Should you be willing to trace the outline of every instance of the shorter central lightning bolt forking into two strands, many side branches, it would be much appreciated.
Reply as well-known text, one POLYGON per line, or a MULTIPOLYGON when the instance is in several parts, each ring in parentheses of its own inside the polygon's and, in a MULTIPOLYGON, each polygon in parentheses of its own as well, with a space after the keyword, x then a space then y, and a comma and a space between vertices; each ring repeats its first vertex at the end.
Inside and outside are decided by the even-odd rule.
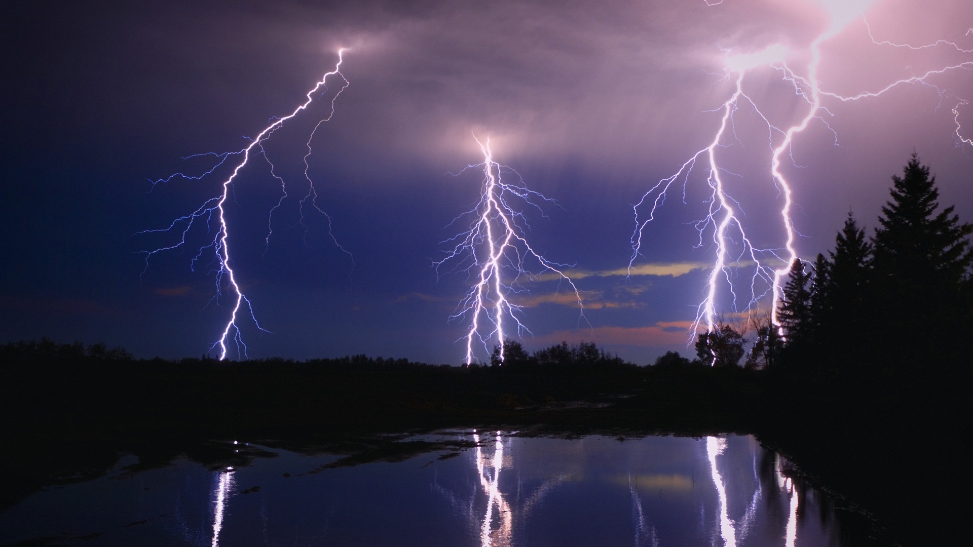
MULTIPOLYGON (((483 168, 484 181, 480 201, 473 209, 453 220, 455 223, 462 218, 471 217, 469 230, 444 241, 452 243, 453 247, 446 258, 433 263, 437 274, 444 264, 452 261, 464 265, 457 268, 476 275, 476 283, 459 303, 456 312, 450 316, 450 320, 470 318, 469 329, 464 337, 466 364, 474 362, 477 343, 488 354, 491 340, 496 340, 500 348, 500 360, 504 360, 504 341, 509 331, 504 330, 505 318, 512 321, 518 336, 523 335, 524 331, 530 332, 519 316, 523 306, 511 301, 512 295, 526 292, 522 277, 541 280, 538 274, 527 270, 525 263, 528 260, 539 264, 542 273, 553 274, 570 286, 581 310, 581 318, 584 318, 584 299, 574 281, 564 274, 568 265, 547 260, 530 246, 522 235, 527 228, 523 211, 512 205, 512 201, 520 201, 526 206, 541 210, 533 200, 553 200, 527 189, 517 171, 494 162, 489 138, 486 142, 480 141, 476 136, 474 139, 483 152, 484 162, 468 165, 463 170, 483 168), (505 172, 513 174, 516 180, 504 180, 502 175, 505 172)), ((542 210, 541 213, 543 214, 542 210)))

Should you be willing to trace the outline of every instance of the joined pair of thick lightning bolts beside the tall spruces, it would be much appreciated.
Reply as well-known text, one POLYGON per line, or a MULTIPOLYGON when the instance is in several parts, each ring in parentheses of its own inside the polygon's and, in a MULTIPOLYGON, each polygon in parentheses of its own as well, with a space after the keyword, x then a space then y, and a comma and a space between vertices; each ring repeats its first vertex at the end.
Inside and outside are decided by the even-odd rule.
MULTIPOLYGON (((826 100, 857 101, 869 97, 878 97, 901 86, 919 84, 935 90, 940 96, 940 103, 947 98, 955 101, 952 112, 954 114, 956 144, 957 146, 973 145, 973 139, 964 135, 959 121, 960 110, 968 104, 968 101, 951 95, 948 91, 940 89, 930 81, 930 78, 936 75, 956 70, 973 69, 973 61, 940 66, 923 74, 891 82, 875 91, 862 91, 857 94, 844 95, 821 89, 817 76, 821 64, 821 45, 836 36, 852 20, 864 19, 863 14, 870 7, 872 1, 818 0, 818 3, 828 12, 831 23, 811 42, 808 48, 810 60, 801 67, 800 71, 788 64, 787 59, 790 52, 783 45, 777 44, 761 52, 751 54, 737 54, 733 51, 726 51, 721 79, 733 82, 734 85, 733 91, 724 102, 710 111, 721 114, 719 125, 714 131, 712 139, 705 147, 681 164, 673 174, 652 186, 632 206, 635 227, 631 236, 630 275, 635 261, 643 254, 643 245, 646 244, 646 241, 643 240, 645 229, 655 219, 657 210, 665 203, 670 189, 673 186, 681 186, 683 203, 685 203, 686 187, 689 184, 691 173, 698 168, 705 171, 705 181, 709 188, 706 200, 708 208, 703 219, 694 224, 699 234, 696 246, 698 248, 703 247, 705 240, 711 240, 714 259, 713 267, 706 278, 705 296, 697 306, 696 317, 690 333, 691 337, 695 337, 696 333, 701 330, 708 332, 714 330, 719 316, 716 301, 721 290, 727 291, 733 312, 745 311, 748 316, 751 312, 758 310, 760 303, 766 302, 765 299, 770 295, 772 320, 775 324, 778 324, 776 311, 782 296, 781 281, 787 275, 791 263, 799 258, 795 248, 795 238, 798 233, 791 217, 791 208, 794 205, 793 184, 784 174, 782 166, 785 157, 790 158, 790 164, 797 166, 792 156, 795 139, 812 124, 819 123, 831 131, 837 145, 838 135, 828 125, 826 119, 826 117, 833 116, 824 104, 826 100), (779 72, 782 80, 793 88, 795 96, 800 99, 799 104, 805 105, 803 114, 790 127, 775 126, 755 100, 744 91, 744 82, 747 76, 756 69, 766 70, 767 68, 779 72), (725 183, 728 176, 742 177, 721 164, 718 156, 720 151, 733 146, 734 142, 742 144, 737 137, 735 128, 735 115, 741 108, 752 110, 755 119, 767 130, 768 140, 765 150, 769 151, 770 163, 766 172, 767 178, 774 183, 773 191, 776 200, 781 203, 778 218, 784 236, 783 241, 778 246, 771 248, 755 245, 753 239, 747 235, 742 209, 739 202, 734 200, 728 192, 725 183), (738 294, 740 292, 739 284, 735 284, 734 281, 742 267, 752 268, 745 295, 738 294)), ((708 6, 717 5, 717 3, 710 2, 706 2, 706 4, 708 6)), ((956 42, 948 40, 939 40, 923 46, 880 41, 872 34, 871 28, 867 26, 867 21, 865 24, 868 28, 869 37, 878 46, 913 50, 948 48, 954 49, 959 54, 973 53, 973 50, 963 49, 956 42)), ((973 34, 973 29, 967 31, 966 34, 973 34)))

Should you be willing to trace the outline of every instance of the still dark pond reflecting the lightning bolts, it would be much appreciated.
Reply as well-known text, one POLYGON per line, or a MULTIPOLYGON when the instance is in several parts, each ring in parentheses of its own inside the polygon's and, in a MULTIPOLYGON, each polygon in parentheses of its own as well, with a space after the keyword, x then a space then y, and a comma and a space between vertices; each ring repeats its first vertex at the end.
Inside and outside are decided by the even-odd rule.
MULTIPOLYGON (((751 436, 467 441, 403 461, 264 448, 242 467, 179 459, 37 492, 0 514, 0 544, 843 545, 824 494, 751 436)), ((241 443, 242 448, 242 443, 241 443)))

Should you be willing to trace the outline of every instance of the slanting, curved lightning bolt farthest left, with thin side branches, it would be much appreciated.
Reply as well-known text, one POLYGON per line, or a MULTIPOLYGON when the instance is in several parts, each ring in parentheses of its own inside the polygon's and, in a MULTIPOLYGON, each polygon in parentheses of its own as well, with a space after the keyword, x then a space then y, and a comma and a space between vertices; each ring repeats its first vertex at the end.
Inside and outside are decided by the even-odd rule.
MULTIPOLYGON (((194 156, 190 156, 188 158, 201 158, 201 157, 211 156, 215 160, 215 164, 213 164, 209 169, 205 170, 204 172, 198 175, 177 172, 165 178, 152 181, 152 186, 153 188, 155 188, 160 183, 169 182, 176 178, 183 178, 187 180, 202 180, 208 175, 213 174, 214 171, 216 171, 224 164, 228 164, 232 166, 232 171, 230 175, 227 178, 225 178, 220 185, 222 187, 222 192, 219 195, 210 198, 206 201, 203 201, 203 203, 199 205, 196 210, 194 210, 189 214, 176 218, 167 227, 154 229, 154 230, 145 230, 137 234, 137 235, 153 234, 153 233, 164 234, 164 235, 173 234, 178 237, 178 240, 171 244, 163 245, 153 250, 141 251, 145 255, 146 270, 148 270, 149 268, 149 261, 156 254, 161 253, 163 251, 180 249, 182 247, 187 246, 188 245, 187 237, 189 237, 190 231, 198 223, 205 224, 205 230, 207 234, 214 234, 212 239, 209 239, 206 244, 198 248, 198 252, 196 256, 190 262, 190 268, 195 272, 196 265, 200 260, 202 260, 203 255, 206 254, 207 252, 212 253, 215 262, 215 267, 211 272, 215 274, 216 277, 216 292, 213 298, 210 300, 210 302, 218 301, 218 299, 221 296, 223 296, 224 291, 230 292, 231 299, 234 302, 233 309, 230 312, 230 317, 227 320, 226 325, 223 327, 223 332, 219 340, 216 343, 214 343, 212 346, 210 346, 210 351, 216 349, 217 347, 219 348, 219 354, 221 360, 227 357, 231 340, 233 341, 236 347, 237 355, 242 355, 244 358, 246 357, 247 346, 243 342, 242 333, 240 331, 240 326, 238 324, 238 321, 242 317, 242 315, 245 314, 249 316, 250 320, 252 320, 254 325, 256 325, 256 327, 261 331, 270 332, 264 327, 262 327, 260 323, 257 321, 257 317, 254 314, 254 310, 253 310, 253 304, 251 303, 250 299, 247 298, 247 296, 241 290, 240 284, 236 278, 236 272, 234 271, 233 259, 231 258, 231 253, 230 253, 230 229, 226 219, 226 208, 225 208, 225 204, 227 200, 230 198, 233 190, 234 179, 236 179, 236 176, 240 173, 240 171, 250 162, 252 156, 263 155, 264 159, 268 162, 268 164, 270 164, 270 174, 274 179, 276 179, 280 183, 281 194, 282 194, 280 200, 277 201, 277 204, 275 204, 270 209, 270 213, 268 215, 268 236, 266 237, 266 241, 267 244, 270 245, 270 235, 272 234, 271 221, 272 221, 273 212, 288 197, 288 194, 287 194, 287 188, 283 178, 281 178, 276 174, 274 170, 274 165, 270 162, 270 158, 268 158, 267 151, 264 149, 264 143, 270 138, 270 136, 274 133, 274 131, 281 128, 285 122, 294 118, 302 111, 306 110, 306 108, 311 104, 311 102, 313 102, 315 97, 323 96, 324 93, 328 90, 326 82, 328 78, 332 76, 338 76, 339 78, 341 78, 342 84, 341 84, 341 88, 331 98, 331 110, 328 112, 327 117, 320 120, 317 123, 317 125, 314 126, 314 129, 310 132, 310 135, 307 138, 306 141, 307 153, 304 156, 304 167, 305 167, 304 175, 309 186, 308 186, 308 191, 306 196, 300 200, 300 210, 301 210, 301 224, 305 226, 305 229, 307 229, 306 225, 304 224, 304 207, 306 205, 313 207, 315 210, 323 214, 328 221, 329 236, 331 236, 332 239, 335 241, 335 243, 338 244, 338 240, 335 239, 334 235, 331 233, 331 217, 329 217, 327 213, 324 212, 324 210, 318 207, 316 203, 317 192, 314 189, 313 181, 311 181, 310 176, 307 174, 307 170, 309 168, 307 164, 307 159, 311 153, 311 141, 314 138, 314 133, 317 131, 317 128, 321 126, 321 124, 330 121, 331 118, 334 116, 335 101, 338 99, 338 96, 341 95, 342 91, 344 91, 345 88, 348 87, 348 81, 344 78, 344 76, 341 73, 341 66, 343 60, 342 55, 344 51, 345 51, 344 48, 338 51, 338 63, 335 65, 335 69, 332 70, 331 72, 325 73, 325 75, 321 78, 321 80, 317 82, 310 91, 307 91, 305 95, 306 101, 304 103, 302 103, 300 106, 295 108, 294 111, 287 116, 284 116, 282 118, 272 118, 271 119, 272 122, 270 123, 269 126, 267 126, 262 131, 260 131, 257 134, 257 136, 248 139, 250 141, 250 144, 248 144, 245 148, 236 152, 226 152, 226 153, 219 153, 219 154, 205 153, 205 154, 197 154, 194 156), (231 159, 235 160, 235 164, 231 162, 231 159), (213 226, 213 224, 215 224, 215 227, 213 226), (245 311, 243 311, 244 308, 246 309, 245 311)), ((347 251, 341 245, 338 246, 339 248, 342 249, 342 251, 347 253, 347 251)), ((143 270, 143 274, 144 272, 145 270, 143 270)))

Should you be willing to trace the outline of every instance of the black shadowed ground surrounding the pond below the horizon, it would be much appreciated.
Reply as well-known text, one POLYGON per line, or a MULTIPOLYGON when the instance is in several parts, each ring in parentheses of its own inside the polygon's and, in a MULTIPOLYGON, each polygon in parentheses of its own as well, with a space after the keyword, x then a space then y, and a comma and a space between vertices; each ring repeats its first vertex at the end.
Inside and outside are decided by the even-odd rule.
MULTIPOLYGON (((965 544, 971 533, 965 379, 891 387, 736 367, 432 367, 366 358, 292 363, 6 359, 0 508, 140 467, 232 457, 214 439, 330 450, 348 463, 436 447, 377 433, 446 427, 533 434, 751 433, 874 520, 874 544, 965 544), (582 404, 578 404, 581 402, 582 404)), ((406 454, 409 453, 409 454, 406 454)))

